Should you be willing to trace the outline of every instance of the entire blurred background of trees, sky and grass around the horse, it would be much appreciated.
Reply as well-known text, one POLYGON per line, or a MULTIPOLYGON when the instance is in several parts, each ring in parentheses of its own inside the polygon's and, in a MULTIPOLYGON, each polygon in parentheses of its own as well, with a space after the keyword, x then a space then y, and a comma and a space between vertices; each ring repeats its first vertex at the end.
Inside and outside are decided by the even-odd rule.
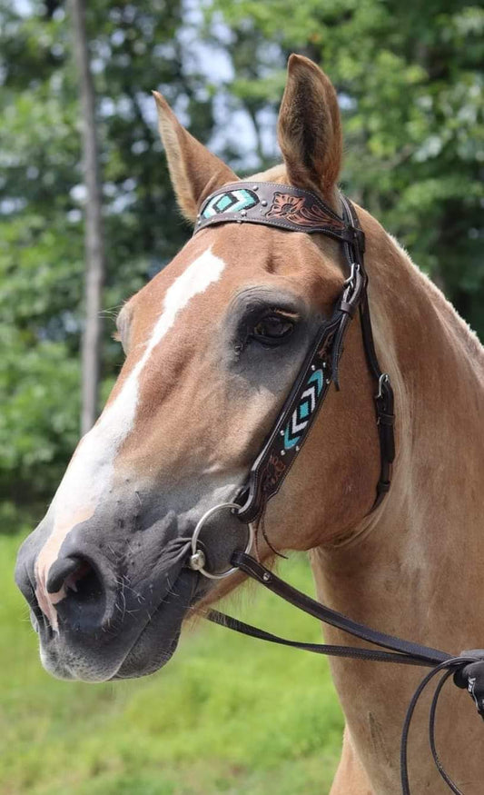
MULTIPOLYGON (((15 551, 114 383, 115 314, 191 234, 151 90, 249 174, 278 161, 287 56, 309 55, 338 90, 343 189, 482 339, 483 34, 482 6, 457 0, 0 0, 1 795, 328 791, 342 720, 324 661, 203 627, 151 679, 50 680, 15 551)), ((303 559, 283 573, 311 591, 303 559)))

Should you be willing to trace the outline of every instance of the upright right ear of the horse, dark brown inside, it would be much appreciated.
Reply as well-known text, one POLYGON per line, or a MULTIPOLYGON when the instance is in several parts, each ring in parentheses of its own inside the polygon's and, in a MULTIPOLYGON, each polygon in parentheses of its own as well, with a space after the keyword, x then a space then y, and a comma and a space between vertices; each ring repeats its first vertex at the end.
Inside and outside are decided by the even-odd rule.
POLYGON ((291 55, 278 138, 291 184, 331 194, 341 168, 341 120, 329 78, 302 55, 291 55))

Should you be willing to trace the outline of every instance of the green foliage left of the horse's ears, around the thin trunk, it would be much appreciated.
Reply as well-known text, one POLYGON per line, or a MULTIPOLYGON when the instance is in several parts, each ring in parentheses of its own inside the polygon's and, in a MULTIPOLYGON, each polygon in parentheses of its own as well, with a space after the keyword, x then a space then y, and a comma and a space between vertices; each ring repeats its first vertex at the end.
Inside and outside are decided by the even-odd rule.
MULTIPOLYGON (((173 201, 151 89, 193 133, 212 98, 188 60, 179 2, 96 0, 87 15, 104 171, 106 313, 168 262, 190 231, 173 201)), ((0 0, 0 489, 50 496, 78 437, 84 317, 80 109, 64 4, 0 0)), ((189 54, 190 55, 190 54, 189 54)), ((104 339, 104 397, 121 362, 104 339)))

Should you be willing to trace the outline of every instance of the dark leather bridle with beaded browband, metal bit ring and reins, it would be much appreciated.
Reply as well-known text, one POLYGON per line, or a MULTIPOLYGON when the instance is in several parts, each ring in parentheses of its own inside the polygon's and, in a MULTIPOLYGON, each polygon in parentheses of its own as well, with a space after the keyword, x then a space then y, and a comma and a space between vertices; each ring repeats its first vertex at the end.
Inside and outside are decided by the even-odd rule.
POLYGON ((301 591, 297 591, 249 554, 254 539, 253 522, 261 519, 267 501, 280 490, 291 464, 301 451, 331 383, 334 383, 337 390, 340 389, 338 372, 343 342, 351 319, 357 312, 360 314, 366 362, 375 383, 375 420, 380 440, 380 479, 376 485, 375 499, 370 511, 374 511, 380 505, 390 489, 391 465, 395 457, 393 391, 389 374, 383 373, 380 369, 373 341, 367 293, 368 274, 363 259, 365 237, 350 200, 341 195, 341 205, 340 216, 319 196, 309 191, 290 185, 252 182, 225 185, 208 196, 202 204, 194 234, 209 225, 231 222, 264 224, 292 232, 325 234, 341 242, 348 278, 343 284, 331 317, 321 323, 311 343, 300 372, 282 406, 282 411, 264 442, 262 451, 252 464, 244 487, 233 502, 215 506, 198 522, 193 532, 192 554, 188 565, 212 579, 228 576, 233 571, 243 571, 252 580, 259 582, 264 588, 301 611, 379 648, 290 641, 212 610, 206 617, 214 623, 252 638, 317 654, 430 668, 430 672, 420 682, 412 696, 403 723, 400 743, 402 795, 410 795, 407 759, 410 722, 422 692, 434 677, 440 675, 430 706, 430 750, 440 776, 449 790, 456 795, 463 795, 443 769, 436 749, 434 737, 436 709, 442 687, 453 675, 457 686, 469 691, 479 715, 484 719, 484 651, 463 651, 459 657, 454 657, 445 651, 370 629, 365 624, 352 621, 342 613, 333 611, 301 591), (220 574, 211 573, 205 568, 206 556, 199 545, 199 536, 209 516, 224 509, 230 510, 241 522, 247 524, 249 541, 245 552, 237 551, 232 554, 232 568, 220 574))

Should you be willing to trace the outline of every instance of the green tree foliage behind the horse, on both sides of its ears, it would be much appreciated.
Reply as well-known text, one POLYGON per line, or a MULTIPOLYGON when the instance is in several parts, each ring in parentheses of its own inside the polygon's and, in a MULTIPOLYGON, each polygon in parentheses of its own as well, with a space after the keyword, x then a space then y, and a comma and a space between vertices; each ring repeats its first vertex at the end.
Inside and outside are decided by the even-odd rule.
MULTIPOLYGON (((84 193, 64 4, 20 7, 0 0, 0 386, 7 398, 0 486, 29 501, 52 492, 77 436, 84 193)), ((274 159, 285 60, 295 51, 320 63, 337 86, 343 188, 484 334, 482 8, 457 0, 209 0, 204 7, 203 19, 188 0, 89 5, 106 313, 188 234, 150 90, 161 90, 193 134, 212 140, 232 165, 266 166, 274 159), (188 44, 188 27, 192 42, 204 42, 202 57, 188 44)), ((104 393, 120 362, 106 325, 104 393)))

